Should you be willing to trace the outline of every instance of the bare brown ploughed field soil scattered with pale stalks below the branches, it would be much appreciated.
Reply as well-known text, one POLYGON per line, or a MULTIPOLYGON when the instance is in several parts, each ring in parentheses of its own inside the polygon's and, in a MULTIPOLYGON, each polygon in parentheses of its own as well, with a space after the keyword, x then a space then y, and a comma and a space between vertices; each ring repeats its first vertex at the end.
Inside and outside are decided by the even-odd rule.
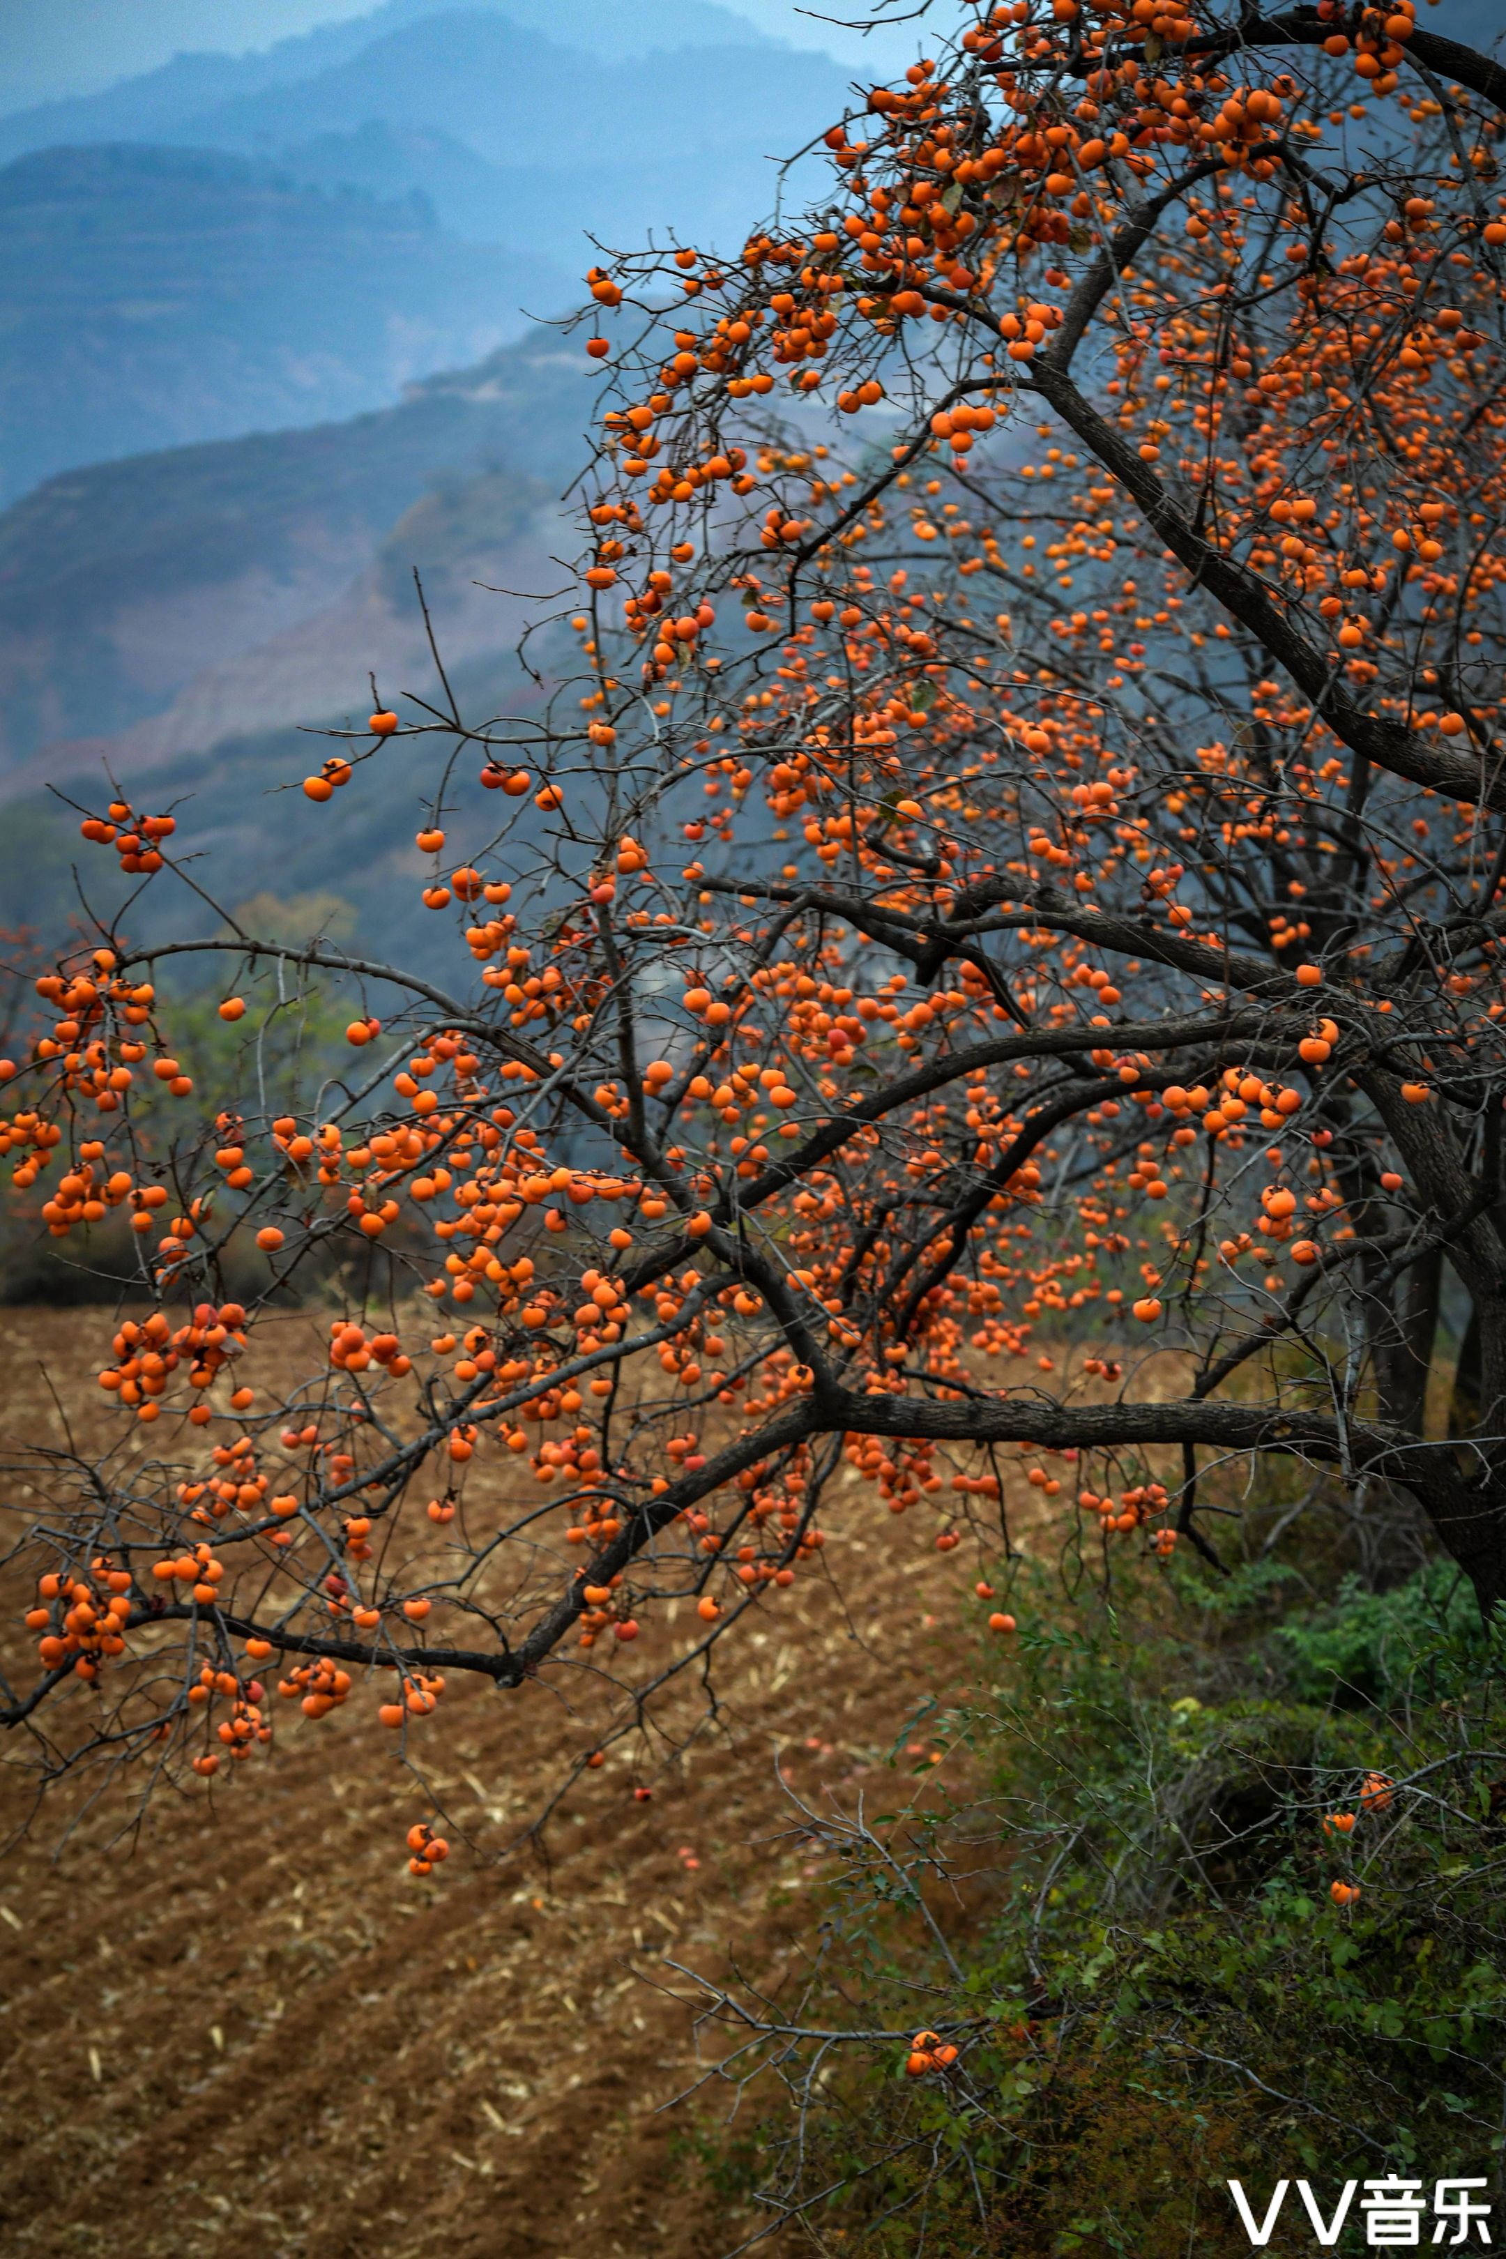
MULTIPOLYGON (((11 1437, 59 1423, 41 1367, 99 1419, 102 1331, 99 1312, 0 1312, 11 1437)), ((583 1746, 544 1685, 456 1690, 429 1721, 454 1839, 431 1882, 404 1850, 431 1796, 354 1703, 318 1724, 278 1706, 271 1760, 228 1794, 163 1789, 124 1837, 120 1789, 32 1816, 14 1776, 5 2252, 716 2259, 752 2234, 695 2146, 729 2092, 668 2108, 698 2065, 691 1986, 664 1956, 777 1977, 811 1934, 813 1868, 781 1841, 774 1753, 802 1794, 851 1803, 872 1776, 887 1800, 896 1735, 973 1658, 969 1547, 942 1559, 919 1520, 847 1500, 829 1518, 844 1595, 802 1584, 727 1640, 720 1710, 682 1699, 700 1730, 653 1800, 612 1760, 542 1852, 506 1846, 583 1746)))

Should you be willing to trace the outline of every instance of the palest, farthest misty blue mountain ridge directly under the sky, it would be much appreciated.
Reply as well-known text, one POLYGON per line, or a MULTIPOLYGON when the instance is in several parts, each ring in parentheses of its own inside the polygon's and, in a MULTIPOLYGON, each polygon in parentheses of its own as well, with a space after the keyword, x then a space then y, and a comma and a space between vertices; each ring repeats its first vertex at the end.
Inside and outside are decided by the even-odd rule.
MULTIPOLYGON (((840 115, 844 72, 720 7, 391 0, 260 56, 178 56, 0 120, 0 156, 151 140, 278 163, 325 190, 420 192, 445 230, 578 273, 587 235, 741 239, 786 156, 840 115)), ((429 366, 436 366, 434 361, 429 366)))

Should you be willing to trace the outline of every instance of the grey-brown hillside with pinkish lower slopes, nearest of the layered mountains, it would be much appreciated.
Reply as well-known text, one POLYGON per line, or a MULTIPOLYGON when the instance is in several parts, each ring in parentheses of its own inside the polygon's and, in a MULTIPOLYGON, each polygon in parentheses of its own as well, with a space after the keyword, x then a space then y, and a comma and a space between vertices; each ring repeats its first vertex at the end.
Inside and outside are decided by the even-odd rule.
MULTIPOLYGON (((122 759, 163 757, 271 712, 318 718, 361 691, 366 666, 386 664, 388 630, 368 623, 368 642, 352 644, 350 592, 384 542, 384 587, 406 635, 409 565, 449 574, 463 596, 458 551, 494 549, 515 515, 499 483, 481 515, 465 517, 456 497, 504 474, 528 511, 542 508, 583 459, 596 382, 573 343, 535 330, 413 386, 400 407, 65 472, 0 513, 5 788, 77 768, 79 739, 111 736, 122 759), (138 734, 122 750, 126 730, 138 734)), ((504 612, 481 608, 465 646, 485 633, 506 644, 504 612)))

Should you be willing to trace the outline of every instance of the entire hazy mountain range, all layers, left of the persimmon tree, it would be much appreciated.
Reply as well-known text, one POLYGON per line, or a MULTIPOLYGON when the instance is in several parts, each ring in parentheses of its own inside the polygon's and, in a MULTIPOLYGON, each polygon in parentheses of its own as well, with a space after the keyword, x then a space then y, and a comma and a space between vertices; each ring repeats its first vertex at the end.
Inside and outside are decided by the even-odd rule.
POLYGON ((77 815, 38 788, 108 764, 214 791, 246 886, 379 922, 377 863, 334 867, 282 786, 368 671, 431 694, 415 567, 465 696, 540 696, 537 601, 494 590, 558 590, 603 373, 508 343, 519 307, 580 296, 587 230, 738 248, 844 108, 826 56, 700 0, 388 0, 0 120, 7 915, 68 915, 77 815))

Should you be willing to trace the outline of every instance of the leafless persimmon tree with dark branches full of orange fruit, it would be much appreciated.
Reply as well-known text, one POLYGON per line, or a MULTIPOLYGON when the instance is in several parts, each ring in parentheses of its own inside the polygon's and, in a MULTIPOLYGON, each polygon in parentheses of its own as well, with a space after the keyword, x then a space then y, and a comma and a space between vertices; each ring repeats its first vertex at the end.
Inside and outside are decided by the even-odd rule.
POLYGON ((413 800, 452 978, 151 947, 192 822, 84 813, 149 897, 38 980, 5 1141, 154 1306, 18 1536, 45 1767, 226 1778, 273 1681, 409 1746, 589 1674, 648 1737, 853 1518, 1007 1572, 1012 1468, 1111 1561, 1282 1455, 1495 1608, 1504 95, 1411 0, 966 11, 802 219, 594 269, 542 703, 440 669, 291 802, 413 800), (196 1118, 205 962, 230 1021, 361 989, 314 1111, 196 1118))

